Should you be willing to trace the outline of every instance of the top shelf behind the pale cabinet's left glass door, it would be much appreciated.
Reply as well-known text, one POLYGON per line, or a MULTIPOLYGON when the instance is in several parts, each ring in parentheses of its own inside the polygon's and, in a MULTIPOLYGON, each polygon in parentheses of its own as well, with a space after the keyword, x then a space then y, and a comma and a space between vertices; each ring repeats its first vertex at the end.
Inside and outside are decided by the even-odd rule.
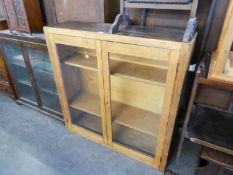
POLYGON ((87 54, 75 54, 64 61, 65 64, 70 66, 98 71, 97 57, 87 54))

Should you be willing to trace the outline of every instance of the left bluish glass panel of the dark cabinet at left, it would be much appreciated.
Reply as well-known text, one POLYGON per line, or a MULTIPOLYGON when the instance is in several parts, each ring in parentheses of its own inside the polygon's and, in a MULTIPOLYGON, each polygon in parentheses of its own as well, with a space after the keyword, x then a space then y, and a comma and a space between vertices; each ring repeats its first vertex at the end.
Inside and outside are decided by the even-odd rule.
POLYGON ((35 93, 27 73, 21 47, 16 44, 4 43, 3 48, 19 98, 36 103, 35 93))

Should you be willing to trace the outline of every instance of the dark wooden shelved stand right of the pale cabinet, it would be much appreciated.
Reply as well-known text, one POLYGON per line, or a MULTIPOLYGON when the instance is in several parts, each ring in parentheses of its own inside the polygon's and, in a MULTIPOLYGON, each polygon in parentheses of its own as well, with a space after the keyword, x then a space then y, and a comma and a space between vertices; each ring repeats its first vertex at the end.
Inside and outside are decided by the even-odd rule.
MULTIPOLYGON (((216 125, 214 125, 214 123, 217 123, 217 119, 215 119, 216 116, 221 118, 222 123, 225 122, 223 124, 224 126, 226 123, 231 123, 231 120, 227 119, 226 116, 231 116, 233 114, 231 109, 233 90, 232 83, 229 81, 223 81, 220 78, 206 78, 206 67, 208 67, 208 63, 206 62, 208 62, 208 60, 204 58, 197 68, 194 85, 188 103, 184 126, 179 142, 177 154, 178 158, 181 156, 185 138, 196 144, 233 155, 232 147, 230 148, 230 146, 226 144, 231 143, 231 141, 225 139, 227 141, 224 142, 224 138, 227 136, 221 132, 215 132, 216 125), (202 111, 197 115, 200 109, 202 111), (210 114, 210 111, 214 112, 210 114), (206 112, 207 114, 205 114, 204 112, 206 112), (216 116, 214 116, 213 114, 215 114, 216 116), (203 124, 204 121, 202 121, 201 119, 205 119, 208 116, 210 116, 211 119, 209 119, 207 122, 208 124, 205 125, 203 124), (195 124, 198 123, 197 120, 195 121, 195 118, 199 118, 202 122, 202 124, 198 126, 198 129, 194 128, 196 127, 195 124), (197 130, 201 130, 201 127, 206 127, 209 130, 202 130, 201 132, 196 133, 197 130), (213 136, 211 135, 211 130, 214 130, 214 135, 218 135, 218 138, 213 138, 213 136), (205 132, 208 134, 205 134, 205 132)), ((220 129, 218 128, 218 130, 220 129)), ((226 133, 230 133, 230 131, 226 133)))

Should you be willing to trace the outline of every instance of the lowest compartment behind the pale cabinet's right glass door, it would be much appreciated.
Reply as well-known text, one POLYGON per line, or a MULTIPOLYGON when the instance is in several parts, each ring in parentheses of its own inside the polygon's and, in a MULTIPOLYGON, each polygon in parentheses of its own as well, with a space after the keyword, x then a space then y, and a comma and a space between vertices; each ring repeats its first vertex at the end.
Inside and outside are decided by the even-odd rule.
POLYGON ((113 124, 113 142, 120 143, 150 156, 155 155, 155 137, 122 125, 113 124))

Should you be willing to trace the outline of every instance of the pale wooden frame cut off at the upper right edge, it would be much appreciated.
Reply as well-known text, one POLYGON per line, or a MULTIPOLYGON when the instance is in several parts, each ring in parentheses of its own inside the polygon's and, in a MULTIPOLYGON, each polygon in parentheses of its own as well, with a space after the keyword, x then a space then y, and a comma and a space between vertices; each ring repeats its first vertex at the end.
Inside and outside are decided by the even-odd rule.
POLYGON ((229 2, 222 33, 216 52, 211 59, 208 78, 230 82, 233 84, 233 75, 225 73, 227 59, 231 57, 231 46, 233 42, 233 1, 229 2))

